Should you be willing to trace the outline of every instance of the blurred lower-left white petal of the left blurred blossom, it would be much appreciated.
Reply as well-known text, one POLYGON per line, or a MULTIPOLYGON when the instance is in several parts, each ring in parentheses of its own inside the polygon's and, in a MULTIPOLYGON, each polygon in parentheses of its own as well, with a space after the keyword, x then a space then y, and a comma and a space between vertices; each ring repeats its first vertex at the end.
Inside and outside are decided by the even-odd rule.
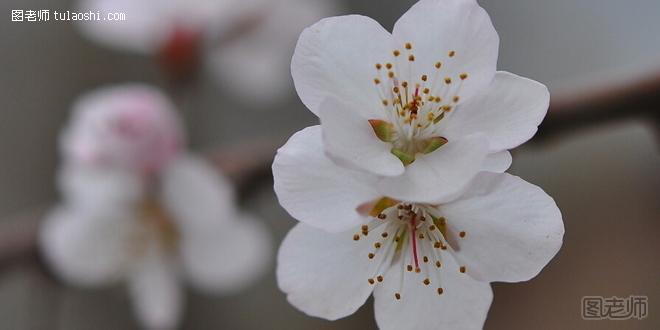
POLYGON ((133 221, 119 212, 91 216, 56 209, 41 227, 41 252, 55 273, 71 284, 116 282, 130 262, 133 221))

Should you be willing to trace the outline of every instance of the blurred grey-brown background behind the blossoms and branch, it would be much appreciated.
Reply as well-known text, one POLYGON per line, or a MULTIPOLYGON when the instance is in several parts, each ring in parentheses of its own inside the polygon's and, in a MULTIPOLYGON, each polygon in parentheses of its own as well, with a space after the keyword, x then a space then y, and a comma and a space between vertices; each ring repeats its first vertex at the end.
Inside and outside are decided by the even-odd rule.
MULTIPOLYGON (((363 14, 391 29, 414 1, 337 3, 342 9, 329 15, 363 14)), ((571 112, 571 100, 612 97, 619 94, 609 91, 620 86, 628 86, 624 89, 633 94, 635 88, 643 87, 660 99, 660 84, 638 84, 660 76, 657 0, 480 3, 500 34, 499 68, 550 88, 549 120, 555 115, 561 123, 571 116, 579 118, 571 112)), ((64 0, 0 3, 0 228, 20 226, 17 219, 40 214, 39 210, 58 201, 54 186, 57 137, 77 96, 131 81, 173 90, 152 57, 99 45, 84 38, 73 22, 10 19, 12 9, 74 6, 64 0)), ((290 76, 281 79, 289 84, 290 76)), ((316 123, 293 90, 265 105, 233 96, 204 70, 183 96, 173 95, 194 150, 213 152, 260 138, 279 145, 295 131, 316 123)), ((493 285, 495 300, 486 329, 660 329, 660 102, 647 101, 623 102, 615 115, 594 116, 593 124, 580 128, 555 125, 547 132, 542 127, 547 138, 534 139, 513 152, 510 172, 555 198, 566 236, 559 255, 540 276, 527 283, 493 285), (640 111, 651 116, 626 115, 640 111), (581 318, 583 296, 630 295, 648 296, 646 319, 581 318)), ((596 102, 576 111, 598 112, 600 106, 596 102)), ((266 220, 275 242, 295 224, 278 206, 268 179, 251 190, 243 205, 266 220)), ((6 243, 0 242, 0 247, 6 243)), ((276 249, 273 246, 273 253, 276 249)), ((31 258, 2 257, 0 329, 139 327, 122 288, 71 288, 31 258)), ((190 291, 182 327, 372 329, 375 323, 370 303, 337 322, 309 318, 286 302, 271 271, 257 285, 234 296, 190 291)))

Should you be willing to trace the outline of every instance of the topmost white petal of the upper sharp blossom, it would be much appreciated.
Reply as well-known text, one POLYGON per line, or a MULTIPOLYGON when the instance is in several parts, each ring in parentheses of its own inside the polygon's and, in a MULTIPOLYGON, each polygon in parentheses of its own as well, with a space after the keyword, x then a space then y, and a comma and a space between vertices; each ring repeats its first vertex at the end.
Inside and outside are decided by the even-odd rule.
POLYGON ((495 75, 499 37, 490 17, 475 0, 421 0, 394 25, 400 43, 410 42, 415 55, 413 77, 432 74, 442 62, 442 77, 458 81, 467 73, 460 96, 469 99, 495 75), (455 51, 455 56, 449 56, 455 51))

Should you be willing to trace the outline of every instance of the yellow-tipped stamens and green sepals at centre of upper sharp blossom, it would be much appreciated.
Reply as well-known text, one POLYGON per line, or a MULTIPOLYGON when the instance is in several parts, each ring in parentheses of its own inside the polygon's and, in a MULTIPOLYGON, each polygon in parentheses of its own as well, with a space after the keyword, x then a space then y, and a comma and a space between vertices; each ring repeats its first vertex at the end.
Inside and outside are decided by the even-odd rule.
MULTIPOLYGON (((369 120, 376 136, 392 143, 392 153, 404 165, 414 162, 415 155, 431 153, 447 143, 441 136, 440 122, 458 105, 463 82, 468 78, 467 73, 442 77, 441 61, 415 71, 428 69, 427 73, 414 77, 416 57, 412 49, 408 42, 403 51, 392 51, 391 62, 375 64, 374 83, 387 119, 369 120)), ((449 51, 447 56, 451 60, 456 52, 449 51)))

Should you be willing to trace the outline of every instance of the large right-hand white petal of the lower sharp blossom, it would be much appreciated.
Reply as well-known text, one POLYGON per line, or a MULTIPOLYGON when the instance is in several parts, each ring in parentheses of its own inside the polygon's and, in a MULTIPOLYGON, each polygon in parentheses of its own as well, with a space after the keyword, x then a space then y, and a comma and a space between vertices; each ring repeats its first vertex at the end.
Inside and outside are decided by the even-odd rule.
POLYGON ((553 199, 506 173, 480 174, 459 200, 440 210, 453 235, 466 232, 455 255, 477 280, 529 280, 562 244, 564 223, 553 199))

